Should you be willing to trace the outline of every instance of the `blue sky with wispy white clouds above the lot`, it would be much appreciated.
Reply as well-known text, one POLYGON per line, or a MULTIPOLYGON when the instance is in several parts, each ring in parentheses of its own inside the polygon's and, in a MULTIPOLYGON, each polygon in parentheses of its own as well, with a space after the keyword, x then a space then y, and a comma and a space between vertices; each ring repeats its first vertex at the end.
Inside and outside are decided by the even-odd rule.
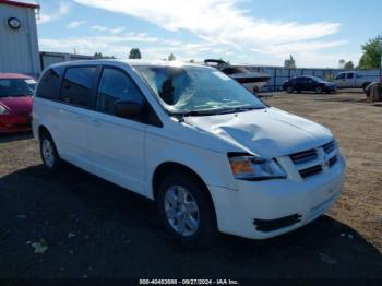
POLYGON ((358 63, 360 46, 382 34, 382 1, 365 0, 40 0, 39 46, 145 59, 224 58, 298 67, 358 63))

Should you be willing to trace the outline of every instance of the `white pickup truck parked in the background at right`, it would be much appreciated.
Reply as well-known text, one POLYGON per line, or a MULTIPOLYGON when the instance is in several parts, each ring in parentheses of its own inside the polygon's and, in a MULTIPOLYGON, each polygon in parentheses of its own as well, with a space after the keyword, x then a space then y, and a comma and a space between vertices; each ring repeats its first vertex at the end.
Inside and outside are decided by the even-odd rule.
POLYGON ((355 71, 348 71, 348 72, 341 72, 338 73, 334 80, 333 83, 336 85, 337 88, 363 88, 372 83, 378 82, 378 76, 372 75, 361 75, 358 74, 355 71))

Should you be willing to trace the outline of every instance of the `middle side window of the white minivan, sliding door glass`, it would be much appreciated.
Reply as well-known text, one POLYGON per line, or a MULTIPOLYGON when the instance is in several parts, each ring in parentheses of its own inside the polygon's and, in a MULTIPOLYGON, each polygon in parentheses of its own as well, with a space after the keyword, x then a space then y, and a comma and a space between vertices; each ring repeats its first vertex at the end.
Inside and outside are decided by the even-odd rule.
POLYGON ((60 99, 71 105, 88 108, 95 75, 95 67, 68 68, 62 80, 60 99))

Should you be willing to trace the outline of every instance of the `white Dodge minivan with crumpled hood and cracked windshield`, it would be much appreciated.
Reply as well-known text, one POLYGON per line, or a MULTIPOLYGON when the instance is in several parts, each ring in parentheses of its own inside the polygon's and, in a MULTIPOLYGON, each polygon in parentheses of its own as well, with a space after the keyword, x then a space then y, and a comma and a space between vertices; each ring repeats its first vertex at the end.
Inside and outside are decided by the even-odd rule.
POLYGON ((189 246, 218 231, 265 239, 301 227, 335 203, 344 180, 330 130, 196 64, 51 65, 33 131, 49 170, 65 160, 155 200, 165 228, 189 246))

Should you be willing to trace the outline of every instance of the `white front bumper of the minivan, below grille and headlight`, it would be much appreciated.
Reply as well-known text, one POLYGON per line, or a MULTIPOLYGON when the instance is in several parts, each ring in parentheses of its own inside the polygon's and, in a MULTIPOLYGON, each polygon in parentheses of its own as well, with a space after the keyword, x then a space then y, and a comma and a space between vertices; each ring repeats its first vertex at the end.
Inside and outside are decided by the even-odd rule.
POLYGON ((210 187, 218 229, 246 238, 266 239, 299 228, 336 202, 342 192, 344 171, 344 158, 338 156, 337 164, 330 170, 302 181, 238 180, 238 190, 210 187), (279 222, 279 227, 275 227, 279 222))

